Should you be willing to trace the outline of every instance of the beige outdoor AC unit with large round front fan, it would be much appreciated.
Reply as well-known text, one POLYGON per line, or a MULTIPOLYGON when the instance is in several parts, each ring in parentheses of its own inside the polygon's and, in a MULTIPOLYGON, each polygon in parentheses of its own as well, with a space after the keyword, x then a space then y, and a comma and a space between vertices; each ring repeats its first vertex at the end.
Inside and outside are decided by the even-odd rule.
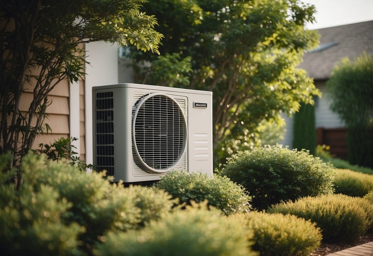
POLYGON ((93 87, 93 163, 115 181, 170 171, 212 176, 212 93, 144 84, 93 87))

